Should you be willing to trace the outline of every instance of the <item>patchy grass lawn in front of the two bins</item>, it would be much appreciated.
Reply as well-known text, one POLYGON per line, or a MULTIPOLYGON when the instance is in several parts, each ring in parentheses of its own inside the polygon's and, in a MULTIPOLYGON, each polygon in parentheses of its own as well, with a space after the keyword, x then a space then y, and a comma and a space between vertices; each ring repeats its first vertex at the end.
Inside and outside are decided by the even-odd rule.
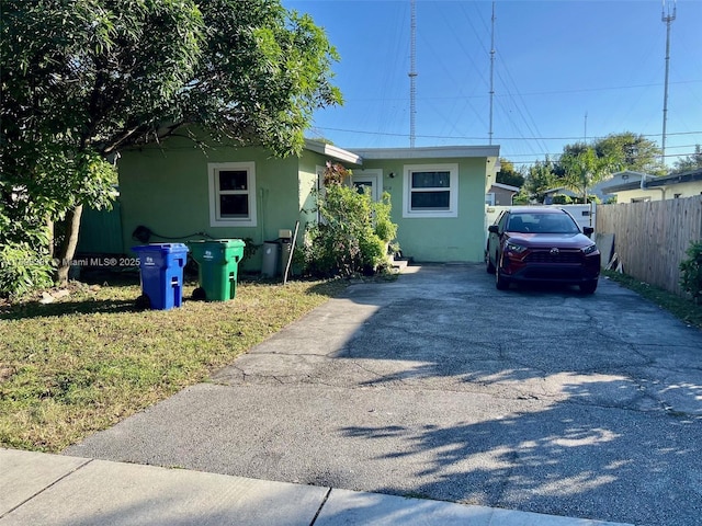
POLYGON ((241 282, 234 301, 139 311, 138 277, 0 305, 0 446, 60 451, 208 375, 347 282, 241 282))

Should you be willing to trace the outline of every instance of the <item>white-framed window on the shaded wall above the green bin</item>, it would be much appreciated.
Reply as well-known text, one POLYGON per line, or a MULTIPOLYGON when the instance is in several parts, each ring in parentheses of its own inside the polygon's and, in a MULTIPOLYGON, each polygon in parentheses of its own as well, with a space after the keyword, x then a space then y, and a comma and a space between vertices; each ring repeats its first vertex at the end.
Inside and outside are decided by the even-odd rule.
POLYGON ((253 162, 211 162, 210 225, 256 227, 256 167, 253 162))

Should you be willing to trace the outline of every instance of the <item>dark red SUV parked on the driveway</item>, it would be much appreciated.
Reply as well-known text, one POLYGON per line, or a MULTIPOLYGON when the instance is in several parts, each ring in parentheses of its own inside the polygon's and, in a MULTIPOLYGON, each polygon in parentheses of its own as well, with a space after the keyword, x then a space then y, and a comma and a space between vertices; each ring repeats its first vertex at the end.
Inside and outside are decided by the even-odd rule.
POLYGON ((488 228, 485 263, 495 286, 505 290, 512 282, 555 282, 578 285, 585 294, 597 289, 600 251, 561 208, 513 207, 488 228))

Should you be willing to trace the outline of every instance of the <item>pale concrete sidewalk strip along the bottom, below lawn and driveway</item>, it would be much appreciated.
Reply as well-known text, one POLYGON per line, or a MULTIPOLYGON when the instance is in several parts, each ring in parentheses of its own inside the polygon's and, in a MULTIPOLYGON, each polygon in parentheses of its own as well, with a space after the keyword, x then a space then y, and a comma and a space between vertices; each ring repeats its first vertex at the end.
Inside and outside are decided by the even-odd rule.
POLYGON ((0 526, 604 523, 0 448, 0 526))

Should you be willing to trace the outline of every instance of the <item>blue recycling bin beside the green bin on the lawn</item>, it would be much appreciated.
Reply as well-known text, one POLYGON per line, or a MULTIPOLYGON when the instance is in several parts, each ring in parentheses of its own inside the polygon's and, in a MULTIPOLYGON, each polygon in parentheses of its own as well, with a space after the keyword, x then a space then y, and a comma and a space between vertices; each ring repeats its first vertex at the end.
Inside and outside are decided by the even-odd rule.
POLYGON ((183 243, 151 243, 134 247, 139 256, 140 298, 154 310, 168 310, 183 302, 183 267, 188 247, 183 243))

